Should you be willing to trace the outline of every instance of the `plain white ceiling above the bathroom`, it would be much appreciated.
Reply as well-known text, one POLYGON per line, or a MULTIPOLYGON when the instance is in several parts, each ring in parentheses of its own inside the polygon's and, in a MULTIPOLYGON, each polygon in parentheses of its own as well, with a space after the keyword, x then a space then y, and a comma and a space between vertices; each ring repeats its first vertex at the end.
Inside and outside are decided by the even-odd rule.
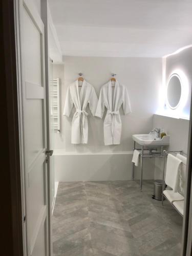
POLYGON ((63 55, 162 57, 192 44, 191 0, 49 0, 63 55))

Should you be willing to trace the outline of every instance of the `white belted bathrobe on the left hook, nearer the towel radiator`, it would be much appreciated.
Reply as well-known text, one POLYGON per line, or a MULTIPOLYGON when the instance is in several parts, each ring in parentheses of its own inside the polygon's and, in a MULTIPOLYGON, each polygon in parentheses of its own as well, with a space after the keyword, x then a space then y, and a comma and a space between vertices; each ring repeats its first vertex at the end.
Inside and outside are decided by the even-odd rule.
POLYGON ((89 108, 92 115, 95 115, 98 98, 93 86, 83 80, 82 87, 79 93, 78 80, 70 84, 67 90, 66 103, 63 115, 70 115, 73 105, 76 112, 72 119, 71 143, 80 144, 88 143, 88 113, 86 107, 89 103, 89 108))

